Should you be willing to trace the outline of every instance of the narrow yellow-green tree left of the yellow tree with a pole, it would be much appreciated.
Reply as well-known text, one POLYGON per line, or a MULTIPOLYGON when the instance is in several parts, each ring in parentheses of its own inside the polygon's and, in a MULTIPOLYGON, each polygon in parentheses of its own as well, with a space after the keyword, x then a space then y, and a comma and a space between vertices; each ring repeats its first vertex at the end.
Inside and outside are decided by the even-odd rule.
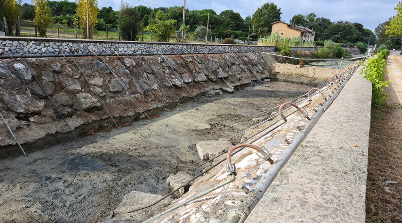
POLYGON ((35 26, 38 29, 40 37, 46 37, 46 29, 50 23, 50 7, 48 5, 48 0, 32 0, 35 5, 35 26))

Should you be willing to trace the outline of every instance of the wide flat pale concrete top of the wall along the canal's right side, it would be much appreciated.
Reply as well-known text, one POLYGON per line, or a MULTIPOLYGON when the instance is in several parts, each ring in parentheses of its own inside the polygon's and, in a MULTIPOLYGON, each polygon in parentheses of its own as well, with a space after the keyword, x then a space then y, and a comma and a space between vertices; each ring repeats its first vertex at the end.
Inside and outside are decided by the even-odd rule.
POLYGON ((364 222, 371 83, 351 77, 246 222, 364 222))

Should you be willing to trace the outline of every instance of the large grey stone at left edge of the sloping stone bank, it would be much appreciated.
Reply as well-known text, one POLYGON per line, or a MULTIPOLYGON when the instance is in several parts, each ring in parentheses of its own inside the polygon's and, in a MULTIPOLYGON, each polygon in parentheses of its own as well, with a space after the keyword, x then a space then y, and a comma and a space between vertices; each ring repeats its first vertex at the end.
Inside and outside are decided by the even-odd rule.
POLYGON ((44 101, 28 95, 5 94, 3 101, 8 108, 23 115, 39 114, 45 107, 44 101))

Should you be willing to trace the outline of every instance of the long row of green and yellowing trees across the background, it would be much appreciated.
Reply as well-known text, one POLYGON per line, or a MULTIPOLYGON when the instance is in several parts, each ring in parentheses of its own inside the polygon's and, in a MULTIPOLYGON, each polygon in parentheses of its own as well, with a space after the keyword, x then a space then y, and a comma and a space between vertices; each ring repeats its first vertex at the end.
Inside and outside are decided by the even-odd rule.
MULTIPOLYGON (((48 23, 61 23, 68 27, 78 25, 86 37, 86 0, 75 2, 32 0, 32 4, 21 5, 19 0, 0 0, 0 16, 7 19, 33 20, 37 27, 46 27, 48 23), (10 10, 13 8, 14 10, 10 10), (3 9, 9 9, 7 10, 3 9), (11 13, 12 12, 12 13, 11 13), (4 14, 4 15, 1 15, 4 14), (38 16, 36 16, 38 15, 38 16), (41 17, 41 18, 37 18, 41 17)), ((150 8, 143 5, 130 6, 121 2, 119 11, 112 7, 97 7, 97 0, 89 0, 90 37, 93 30, 109 29, 121 32, 124 40, 138 40, 144 31, 151 32, 158 41, 166 41, 175 31, 186 31, 187 38, 204 38, 208 29, 208 36, 217 38, 239 38, 248 36, 259 39, 271 34, 271 23, 281 20, 281 8, 274 3, 265 3, 251 16, 244 19, 238 12, 224 10, 217 14, 212 9, 189 10, 186 9, 185 26, 182 26, 183 6, 150 8), (207 28, 207 20, 209 21, 207 28), (269 15, 268 17, 266 15, 269 15), (161 32, 163 34, 161 34, 161 32), (163 36, 163 37, 162 37, 163 36), (167 39, 166 39, 167 38, 167 39)), ((389 22, 389 21, 387 21, 389 22)), ((385 22, 385 23, 387 23, 385 22)), ((384 31, 378 28, 375 34, 364 28, 360 23, 348 21, 333 22, 325 17, 317 17, 315 13, 307 15, 297 14, 290 20, 291 24, 308 27, 316 32, 315 40, 333 40, 336 43, 356 42, 374 43, 382 40, 384 31), (376 39, 376 35, 380 39, 376 39), (380 37, 381 36, 381 37, 380 37)), ((380 24, 381 25, 381 24, 380 24)), ((386 24, 382 25, 385 27, 386 24)), ((380 27, 380 26, 379 26, 380 27)), ((42 32, 42 36, 46 32, 42 32)), ((398 40, 394 41, 395 43, 398 40)))

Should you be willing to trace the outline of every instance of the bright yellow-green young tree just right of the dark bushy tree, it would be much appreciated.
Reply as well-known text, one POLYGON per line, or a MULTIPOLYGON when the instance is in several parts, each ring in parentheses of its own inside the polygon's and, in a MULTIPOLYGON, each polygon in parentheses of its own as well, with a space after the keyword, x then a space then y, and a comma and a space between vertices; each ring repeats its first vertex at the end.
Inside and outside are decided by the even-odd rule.
POLYGON ((151 31, 159 42, 169 42, 170 35, 174 33, 174 23, 176 20, 165 20, 165 13, 158 10, 155 19, 149 21, 149 25, 145 30, 151 31))

